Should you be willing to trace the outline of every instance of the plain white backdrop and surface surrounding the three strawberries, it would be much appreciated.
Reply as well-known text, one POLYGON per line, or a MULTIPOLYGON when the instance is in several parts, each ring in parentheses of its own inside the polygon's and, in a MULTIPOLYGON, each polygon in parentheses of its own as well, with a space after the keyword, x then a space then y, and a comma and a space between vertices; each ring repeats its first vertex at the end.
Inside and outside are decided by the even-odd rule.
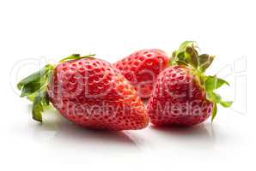
POLYGON ((0 0, 0 170, 255 170, 255 16, 247 0, 0 0), (40 125, 16 94, 37 59, 115 62, 143 48, 171 53, 184 40, 215 54, 208 73, 231 84, 222 94, 235 103, 212 125, 97 132, 54 111, 40 125))

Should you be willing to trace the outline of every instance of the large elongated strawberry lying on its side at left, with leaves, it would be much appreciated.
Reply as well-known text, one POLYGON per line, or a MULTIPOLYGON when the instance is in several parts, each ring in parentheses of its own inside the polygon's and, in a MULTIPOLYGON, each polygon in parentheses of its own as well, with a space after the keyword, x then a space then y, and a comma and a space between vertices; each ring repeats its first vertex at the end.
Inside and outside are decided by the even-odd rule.
POLYGON ((69 56, 21 80, 21 97, 33 100, 33 117, 42 121, 46 106, 82 127, 129 130, 147 127, 149 116, 137 91, 108 62, 69 56))

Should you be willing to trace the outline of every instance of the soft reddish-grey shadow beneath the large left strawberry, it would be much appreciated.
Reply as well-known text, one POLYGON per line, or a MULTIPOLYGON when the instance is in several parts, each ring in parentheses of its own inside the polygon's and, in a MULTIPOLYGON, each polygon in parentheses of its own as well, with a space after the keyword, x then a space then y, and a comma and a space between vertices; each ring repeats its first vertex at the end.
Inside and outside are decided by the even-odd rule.
MULTIPOLYGON (((27 109, 30 111, 32 105, 27 105, 27 109)), ((118 144, 118 145, 137 145, 137 139, 131 137, 125 132, 117 132, 110 130, 98 130, 98 129, 88 129, 85 127, 80 127, 67 121, 64 116, 59 115, 58 111, 55 109, 48 109, 45 113, 44 124, 40 122, 35 122, 34 124, 34 136, 40 137, 41 133, 54 132, 55 140, 63 140, 65 142, 73 144, 118 144)), ((31 126, 29 126, 31 127, 31 126)), ((97 145, 98 146, 98 145, 97 145)))

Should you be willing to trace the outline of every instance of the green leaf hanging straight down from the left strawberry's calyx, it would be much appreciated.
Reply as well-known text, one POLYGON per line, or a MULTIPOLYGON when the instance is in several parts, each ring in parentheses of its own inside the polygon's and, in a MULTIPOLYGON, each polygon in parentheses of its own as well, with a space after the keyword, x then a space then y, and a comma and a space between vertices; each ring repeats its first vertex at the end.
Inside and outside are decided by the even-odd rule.
POLYGON ((48 97, 46 96, 46 91, 40 91, 34 97, 34 103, 32 107, 32 115, 35 121, 42 122, 42 112, 49 105, 48 97))

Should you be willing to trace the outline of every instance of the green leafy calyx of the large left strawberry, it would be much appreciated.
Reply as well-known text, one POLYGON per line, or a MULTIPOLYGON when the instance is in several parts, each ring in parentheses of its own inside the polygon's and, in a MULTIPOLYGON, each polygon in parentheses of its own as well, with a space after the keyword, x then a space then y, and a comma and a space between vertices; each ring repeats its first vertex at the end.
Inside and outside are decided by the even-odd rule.
MULTIPOLYGON (((65 57, 58 63, 92 56, 95 56, 95 54, 88 56, 74 54, 65 57)), ((55 65, 47 64, 44 68, 41 68, 34 74, 28 75, 25 79, 22 79, 17 84, 17 88, 21 91, 21 97, 27 97, 28 100, 33 102, 32 115, 35 121, 42 122, 42 112, 51 105, 49 102, 49 97, 47 96, 47 85, 51 80, 52 71, 55 67, 55 65)))

